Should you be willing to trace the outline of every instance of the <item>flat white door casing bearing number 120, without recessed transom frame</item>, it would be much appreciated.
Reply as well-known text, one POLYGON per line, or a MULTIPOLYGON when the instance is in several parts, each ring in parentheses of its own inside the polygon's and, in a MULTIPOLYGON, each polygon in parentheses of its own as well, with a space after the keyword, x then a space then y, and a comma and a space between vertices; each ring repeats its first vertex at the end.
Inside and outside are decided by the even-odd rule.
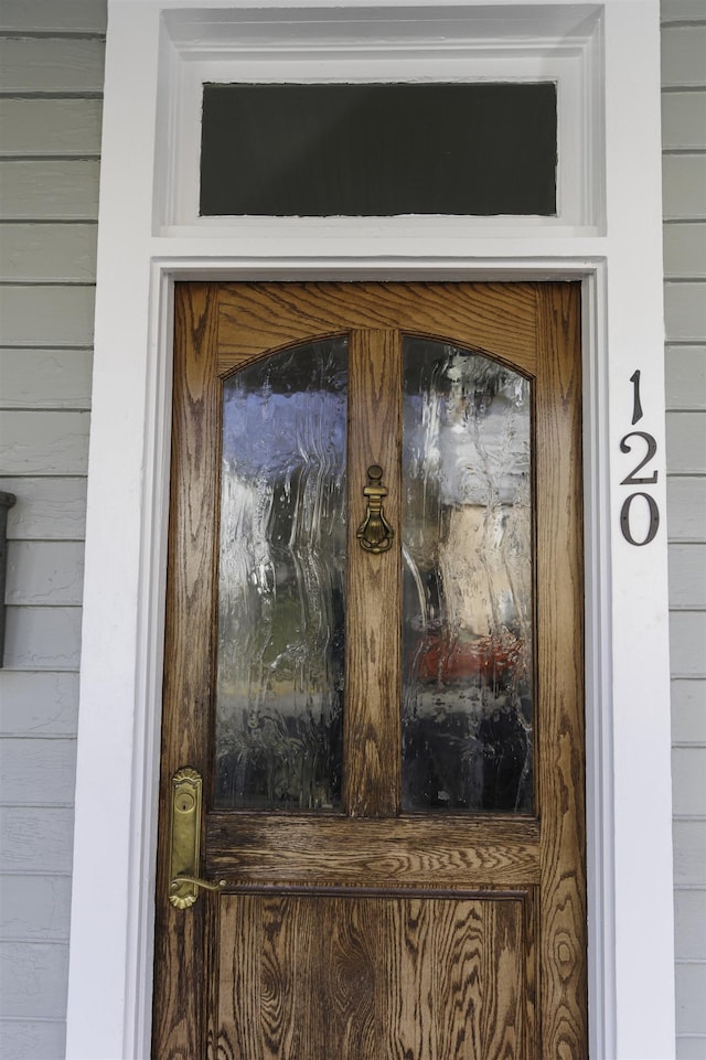
MULTIPOLYGON (((325 18, 366 6, 332 3, 325 18)), ((486 7, 502 18, 501 2, 486 7)), ((605 234, 500 226, 472 240, 443 221, 357 239, 345 225, 164 228, 154 188, 168 178, 173 138, 156 130, 179 57, 160 38, 162 12, 179 9, 182 36, 197 40, 201 8, 110 3, 67 1057, 149 1056, 173 280, 416 276, 585 277, 591 1057, 664 1060, 674 1051, 666 534, 663 525, 649 548, 634 548, 618 522, 635 367, 665 512, 657 4, 600 6, 605 77, 596 60, 600 90, 586 107, 600 142, 605 133, 605 234)), ((258 8, 271 13, 277 2, 258 8)), ((403 8, 391 0, 389 19, 403 8)), ((570 8, 521 0, 514 10, 544 18, 570 8)), ((600 213, 600 190, 591 194, 600 213)))

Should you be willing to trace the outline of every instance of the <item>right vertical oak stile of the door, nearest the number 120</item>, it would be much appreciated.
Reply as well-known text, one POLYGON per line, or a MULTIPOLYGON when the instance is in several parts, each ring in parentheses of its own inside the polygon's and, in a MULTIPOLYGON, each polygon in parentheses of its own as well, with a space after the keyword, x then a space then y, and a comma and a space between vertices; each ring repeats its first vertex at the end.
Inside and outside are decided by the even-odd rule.
POLYGON ((580 1060, 588 1054, 580 291, 538 286, 537 299, 542 1042, 546 1056, 580 1060))

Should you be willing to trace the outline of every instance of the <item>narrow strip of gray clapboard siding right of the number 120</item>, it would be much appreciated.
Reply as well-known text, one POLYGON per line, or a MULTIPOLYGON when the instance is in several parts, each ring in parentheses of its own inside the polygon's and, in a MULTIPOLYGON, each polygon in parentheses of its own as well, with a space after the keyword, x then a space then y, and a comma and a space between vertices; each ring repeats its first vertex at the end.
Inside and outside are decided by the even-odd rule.
POLYGON ((676 1056, 706 1060, 706 2, 662 0, 676 1056))

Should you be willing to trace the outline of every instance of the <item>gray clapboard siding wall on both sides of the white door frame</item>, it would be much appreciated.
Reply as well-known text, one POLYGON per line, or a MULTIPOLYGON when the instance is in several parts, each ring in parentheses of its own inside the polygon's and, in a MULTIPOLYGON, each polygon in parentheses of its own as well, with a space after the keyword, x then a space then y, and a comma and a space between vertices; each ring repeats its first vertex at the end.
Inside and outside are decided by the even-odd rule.
MULTIPOLYGON (((662 10, 676 1053, 706 1060, 706 4, 662 10)), ((64 1054, 105 21, 0 8, 0 1060, 64 1054)))

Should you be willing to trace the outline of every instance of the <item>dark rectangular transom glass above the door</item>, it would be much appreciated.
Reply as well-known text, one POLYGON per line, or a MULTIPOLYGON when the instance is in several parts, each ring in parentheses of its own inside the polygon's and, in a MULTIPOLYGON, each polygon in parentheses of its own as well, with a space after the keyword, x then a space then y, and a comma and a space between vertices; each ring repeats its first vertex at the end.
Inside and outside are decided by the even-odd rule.
POLYGON ((203 89, 200 213, 556 214, 552 82, 203 89))

